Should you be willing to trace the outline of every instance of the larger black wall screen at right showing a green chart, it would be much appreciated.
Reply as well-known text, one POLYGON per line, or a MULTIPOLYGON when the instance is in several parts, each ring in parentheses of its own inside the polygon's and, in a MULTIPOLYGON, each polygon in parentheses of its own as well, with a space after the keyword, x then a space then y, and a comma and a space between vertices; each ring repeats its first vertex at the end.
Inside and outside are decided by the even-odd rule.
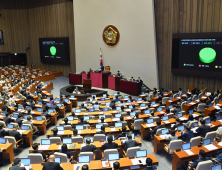
POLYGON ((222 34, 175 34, 172 73, 222 75, 222 34))

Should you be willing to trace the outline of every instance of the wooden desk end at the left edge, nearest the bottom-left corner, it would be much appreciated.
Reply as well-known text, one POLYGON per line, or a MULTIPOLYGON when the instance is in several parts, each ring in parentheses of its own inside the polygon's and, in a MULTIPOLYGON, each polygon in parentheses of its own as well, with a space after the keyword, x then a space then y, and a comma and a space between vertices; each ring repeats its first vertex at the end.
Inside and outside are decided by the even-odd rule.
POLYGON ((14 161, 14 150, 13 150, 13 144, 0 144, 0 148, 4 148, 2 154, 3 159, 9 159, 10 163, 14 161))

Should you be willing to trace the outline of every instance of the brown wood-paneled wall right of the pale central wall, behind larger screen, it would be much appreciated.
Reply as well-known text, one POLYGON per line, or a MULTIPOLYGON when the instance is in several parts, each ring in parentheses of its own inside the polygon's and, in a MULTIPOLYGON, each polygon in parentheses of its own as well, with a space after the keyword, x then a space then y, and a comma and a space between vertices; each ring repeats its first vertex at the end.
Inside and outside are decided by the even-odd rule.
POLYGON ((171 73, 173 33, 222 31, 221 0, 155 0, 159 85, 164 88, 222 88, 222 79, 171 73), (203 82, 200 84, 199 82, 203 82))

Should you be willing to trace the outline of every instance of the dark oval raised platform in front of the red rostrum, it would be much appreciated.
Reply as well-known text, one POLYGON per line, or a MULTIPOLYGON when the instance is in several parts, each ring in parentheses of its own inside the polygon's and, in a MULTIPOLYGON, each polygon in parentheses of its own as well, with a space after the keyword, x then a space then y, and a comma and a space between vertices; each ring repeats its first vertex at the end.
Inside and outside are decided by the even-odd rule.
POLYGON ((79 86, 65 86, 60 89, 60 94, 65 94, 65 95, 74 95, 78 101, 85 101, 88 97, 91 97, 92 95, 96 95, 97 97, 103 96, 103 94, 107 94, 107 91, 103 90, 95 90, 95 89, 84 89, 83 87, 79 86), (83 91, 81 94, 73 94, 72 92, 74 89, 78 87, 79 91, 83 91))

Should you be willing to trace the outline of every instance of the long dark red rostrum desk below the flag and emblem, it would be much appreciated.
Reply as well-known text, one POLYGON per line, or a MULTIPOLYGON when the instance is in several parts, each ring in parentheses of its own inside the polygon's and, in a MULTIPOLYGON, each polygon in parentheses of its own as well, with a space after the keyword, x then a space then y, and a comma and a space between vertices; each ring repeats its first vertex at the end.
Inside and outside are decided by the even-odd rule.
POLYGON ((122 91, 130 95, 141 94, 141 83, 121 80, 121 77, 110 75, 110 72, 82 72, 81 74, 69 73, 70 84, 83 84, 84 79, 91 79, 92 87, 109 88, 122 91))

